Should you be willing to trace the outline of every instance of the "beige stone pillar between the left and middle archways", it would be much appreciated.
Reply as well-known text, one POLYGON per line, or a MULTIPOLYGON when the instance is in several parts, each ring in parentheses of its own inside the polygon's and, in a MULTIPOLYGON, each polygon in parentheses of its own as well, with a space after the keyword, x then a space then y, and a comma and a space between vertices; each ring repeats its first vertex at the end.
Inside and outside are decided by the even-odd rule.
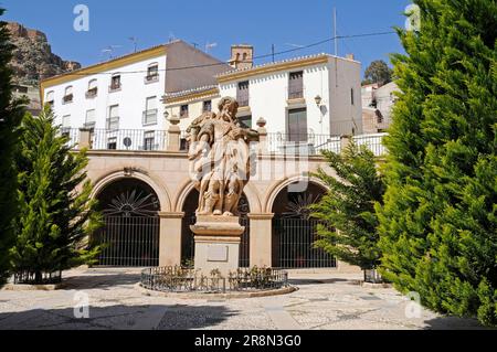
POLYGON ((159 266, 181 265, 181 230, 184 213, 159 213, 159 266))

